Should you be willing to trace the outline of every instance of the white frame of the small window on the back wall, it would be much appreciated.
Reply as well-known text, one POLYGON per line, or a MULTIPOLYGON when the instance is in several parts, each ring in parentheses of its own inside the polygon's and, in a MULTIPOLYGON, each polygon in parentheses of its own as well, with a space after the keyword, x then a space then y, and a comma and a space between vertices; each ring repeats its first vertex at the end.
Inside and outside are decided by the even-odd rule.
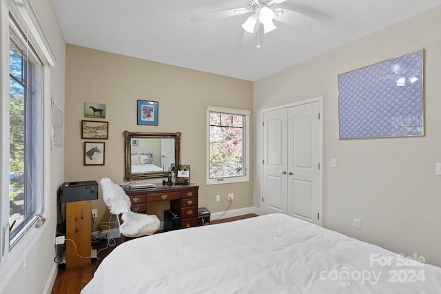
POLYGON ((249 181, 249 116, 251 116, 251 112, 249 110, 244 109, 234 109, 234 108, 226 108, 226 107, 218 107, 218 106, 207 106, 207 120, 206 120, 206 182, 207 185, 219 185, 219 184, 229 184, 232 182, 248 182, 249 181), (209 139, 210 139, 210 112, 221 112, 227 114, 237 114, 245 116, 243 132, 245 132, 245 138, 243 142, 243 151, 244 151, 244 160, 245 160, 245 176, 237 176, 237 177, 229 177, 229 178, 209 178, 209 139))

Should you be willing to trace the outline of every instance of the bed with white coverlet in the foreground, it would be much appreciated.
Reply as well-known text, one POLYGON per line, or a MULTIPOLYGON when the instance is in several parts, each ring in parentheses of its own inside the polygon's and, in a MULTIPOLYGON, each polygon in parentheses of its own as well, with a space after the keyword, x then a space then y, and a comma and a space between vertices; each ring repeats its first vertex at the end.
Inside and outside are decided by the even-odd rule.
POLYGON ((125 242, 81 293, 441 293, 441 269, 276 213, 125 242))

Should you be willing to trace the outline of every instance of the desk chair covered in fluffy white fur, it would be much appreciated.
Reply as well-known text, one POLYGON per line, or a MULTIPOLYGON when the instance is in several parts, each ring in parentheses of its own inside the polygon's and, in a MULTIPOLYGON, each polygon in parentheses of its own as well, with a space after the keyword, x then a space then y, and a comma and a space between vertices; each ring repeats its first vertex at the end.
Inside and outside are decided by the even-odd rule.
POLYGON ((154 215, 135 213, 130 210, 130 198, 123 188, 116 185, 110 178, 102 178, 99 182, 103 191, 103 200, 116 215, 121 233, 121 243, 126 237, 136 238, 143 235, 153 235, 159 229, 159 219, 154 215))

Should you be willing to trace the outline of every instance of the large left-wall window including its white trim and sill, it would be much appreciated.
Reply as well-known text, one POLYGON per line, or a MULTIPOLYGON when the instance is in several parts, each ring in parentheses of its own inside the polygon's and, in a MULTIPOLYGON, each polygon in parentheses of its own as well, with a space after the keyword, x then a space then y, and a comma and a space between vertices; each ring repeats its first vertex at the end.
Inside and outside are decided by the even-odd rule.
POLYGON ((48 218, 50 67, 30 1, 0 2, 0 292, 48 218))

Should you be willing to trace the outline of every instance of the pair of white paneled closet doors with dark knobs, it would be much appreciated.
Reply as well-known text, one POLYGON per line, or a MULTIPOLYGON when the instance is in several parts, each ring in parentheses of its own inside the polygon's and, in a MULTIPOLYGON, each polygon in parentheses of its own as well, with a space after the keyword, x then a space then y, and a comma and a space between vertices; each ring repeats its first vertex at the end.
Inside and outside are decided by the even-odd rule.
POLYGON ((263 113, 261 211, 321 224, 320 101, 263 113))

